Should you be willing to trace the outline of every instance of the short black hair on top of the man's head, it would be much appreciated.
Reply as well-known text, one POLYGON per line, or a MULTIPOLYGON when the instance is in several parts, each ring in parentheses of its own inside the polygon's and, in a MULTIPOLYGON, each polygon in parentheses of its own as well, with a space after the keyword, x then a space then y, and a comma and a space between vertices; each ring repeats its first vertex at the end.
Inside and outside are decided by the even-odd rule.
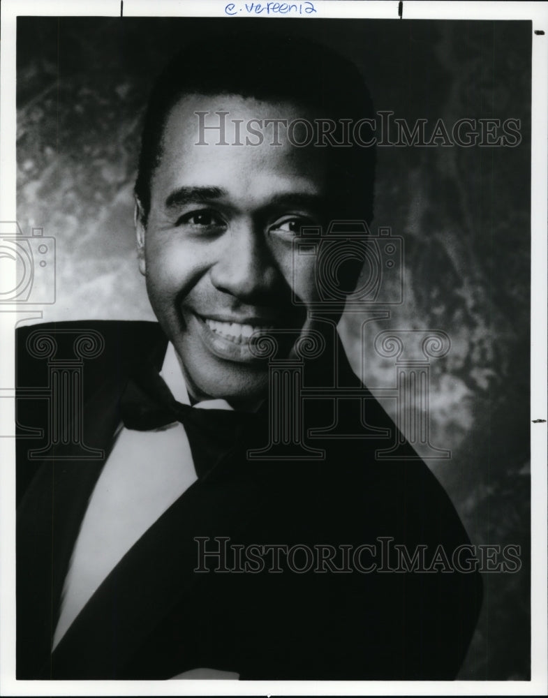
MULTIPOLYGON (((236 24, 222 35, 208 35, 186 45, 154 84, 145 112, 135 182, 145 223, 151 203, 151 179, 161 161, 165 122, 172 107, 186 94, 235 94, 262 101, 286 101, 311 108, 318 118, 333 119, 337 124, 339 119, 375 117, 369 90, 352 61, 309 38, 270 29, 252 34, 237 29, 236 24)), ((337 142, 341 140, 337 138, 337 142)), ((353 144, 330 149, 333 167, 329 198, 347 217, 370 222, 375 147, 353 144)))

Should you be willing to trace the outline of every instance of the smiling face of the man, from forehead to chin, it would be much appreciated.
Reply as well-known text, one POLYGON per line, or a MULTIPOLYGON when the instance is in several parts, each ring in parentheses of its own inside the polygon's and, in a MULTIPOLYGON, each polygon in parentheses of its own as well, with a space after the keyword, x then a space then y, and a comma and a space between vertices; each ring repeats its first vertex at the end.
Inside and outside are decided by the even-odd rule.
POLYGON ((266 130, 260 145, 232 144, 232 128, 230 145, 216 144, 219 131, 205 131, 207 145, 197 145, 199 111, 209 112, 206 124, 219 123, 217 111, 229 112, 230 127, 243 119, 244 143, 249 119, 311 115, 235 95, 185 96, 165 125, 146 225, 137 216, 140 270, 189 391, 195 399, 245 404, 264 397, 268 385, 251 334, 273 330, 289 355, 311 327, 316 258, 299 256, 294 271, 293 240, 302 225, 325 224, 329 149, 292 146, 283 128, 276 146, 266 130))

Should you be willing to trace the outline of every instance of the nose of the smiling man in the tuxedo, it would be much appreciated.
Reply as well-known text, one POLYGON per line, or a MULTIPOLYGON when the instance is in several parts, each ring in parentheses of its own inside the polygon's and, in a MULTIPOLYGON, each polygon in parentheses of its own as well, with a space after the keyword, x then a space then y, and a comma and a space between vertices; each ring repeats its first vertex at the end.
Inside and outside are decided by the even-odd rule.
POLYGON ((255 304, 272 296, 279 272, 264 233, 252 223, 242 223, 228 230, 223 242, 211 271, 215 288, 255 304))

